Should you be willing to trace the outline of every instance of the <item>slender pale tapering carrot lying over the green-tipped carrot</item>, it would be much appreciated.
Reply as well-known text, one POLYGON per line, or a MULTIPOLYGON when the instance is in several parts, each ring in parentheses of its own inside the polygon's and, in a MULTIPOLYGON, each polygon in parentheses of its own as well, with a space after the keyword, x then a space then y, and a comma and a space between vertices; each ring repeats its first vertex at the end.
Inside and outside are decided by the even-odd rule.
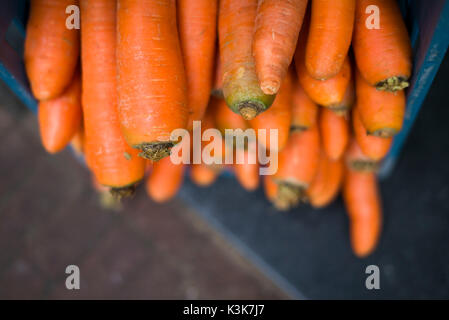
POLYGON ((260 88, 276 94, 295 53, 307 0, 258 1, 253 56, 260 88))

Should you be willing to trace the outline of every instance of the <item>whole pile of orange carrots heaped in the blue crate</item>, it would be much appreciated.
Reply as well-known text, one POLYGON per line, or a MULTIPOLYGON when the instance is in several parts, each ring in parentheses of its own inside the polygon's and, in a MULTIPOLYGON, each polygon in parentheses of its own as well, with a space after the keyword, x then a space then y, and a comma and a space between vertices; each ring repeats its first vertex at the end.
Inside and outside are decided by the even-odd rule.
POLYGON ((194 121, 222 133, 277 129, 231 165, 195 162, 210 152, 203 143, 183 155, 191 179, 208 186, 226 167, 255 190, 266 163, 249 159, 277 153, 263 176, 276 208, 321 208, 342 189, 354 252, 375 248, 375 171, 401 130, 411 76, 395 0, 32 0, 25 66, 45 149, 71 144, 115 197, 145 178, 152 199, 172 198, 186 165, 169 155, 190 143, 172 133, 194 121), (74 4, 80 29, 67 25, 74 4))

